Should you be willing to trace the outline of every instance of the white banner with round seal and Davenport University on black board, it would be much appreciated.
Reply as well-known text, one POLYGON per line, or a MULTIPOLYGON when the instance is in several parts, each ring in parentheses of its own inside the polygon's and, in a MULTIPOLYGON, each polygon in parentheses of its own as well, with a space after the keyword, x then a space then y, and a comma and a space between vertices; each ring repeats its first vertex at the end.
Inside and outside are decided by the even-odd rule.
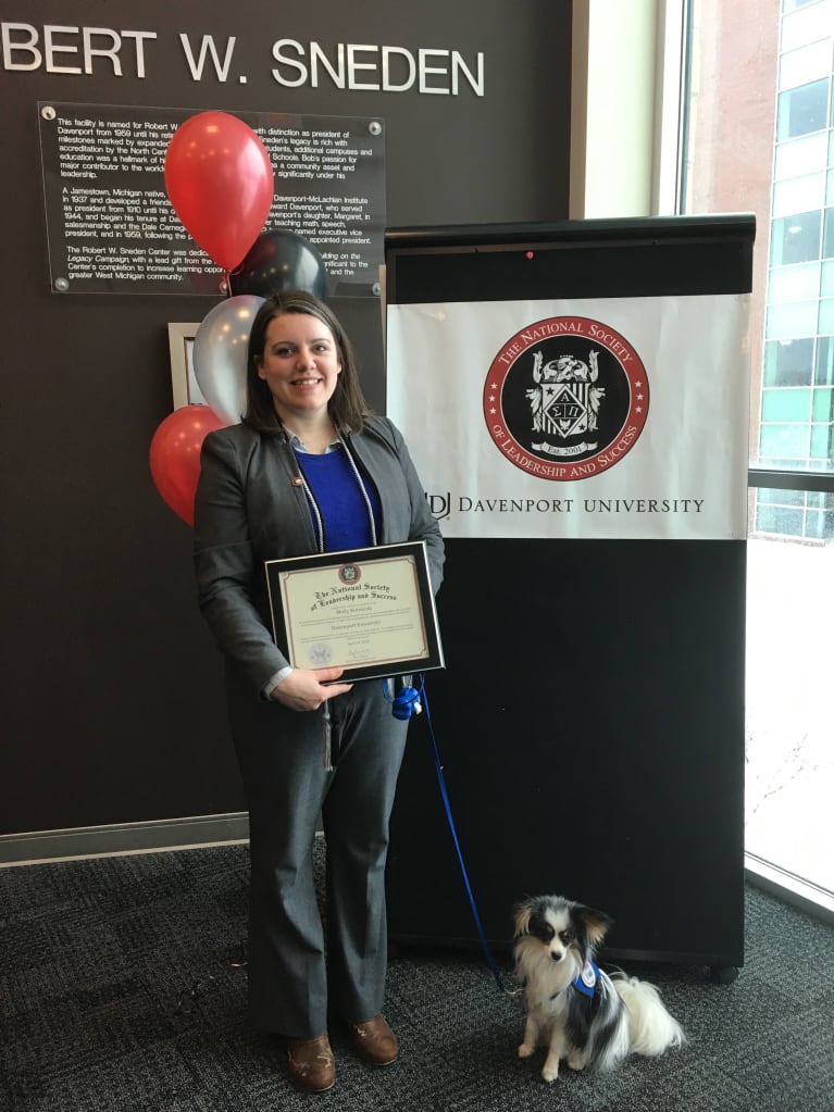
POLYGON ((746 535, 749 295, 389 305, 446 537, 746 535))

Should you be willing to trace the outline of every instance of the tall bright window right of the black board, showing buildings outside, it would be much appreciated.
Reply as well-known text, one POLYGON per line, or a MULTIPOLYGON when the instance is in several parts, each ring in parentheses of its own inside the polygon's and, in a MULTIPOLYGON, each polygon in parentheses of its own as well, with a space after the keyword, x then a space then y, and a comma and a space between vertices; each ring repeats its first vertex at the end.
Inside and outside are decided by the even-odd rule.
POLYGON ((758 228, 745 850, 834 910, 834 0, 689 0, 688 28, 682 208, 758 228))

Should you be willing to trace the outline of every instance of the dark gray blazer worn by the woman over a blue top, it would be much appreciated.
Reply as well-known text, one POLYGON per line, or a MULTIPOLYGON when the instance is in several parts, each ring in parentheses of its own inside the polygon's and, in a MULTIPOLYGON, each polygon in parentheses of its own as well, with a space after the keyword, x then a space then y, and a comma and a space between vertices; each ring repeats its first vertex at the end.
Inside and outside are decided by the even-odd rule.
MULTIPOLYGON (((379 492, 380 544, 425 540, 437 592, 443 538, 401 433, 386 417, 369 417, 363 433, 345 440, 379 492)), ((264 562, 317 550, 307 497, 292 483, 298 474, 280 435, 231 425, 203 440, 195 503, 198 600, 220 651, 255 697, 288 664, 272 641, 264 562)))

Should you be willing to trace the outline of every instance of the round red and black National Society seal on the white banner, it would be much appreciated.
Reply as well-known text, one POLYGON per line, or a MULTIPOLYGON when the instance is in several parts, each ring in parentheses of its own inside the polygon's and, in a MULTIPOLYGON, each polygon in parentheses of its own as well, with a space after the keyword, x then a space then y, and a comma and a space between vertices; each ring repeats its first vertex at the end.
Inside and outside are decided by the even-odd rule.
POLYGON ((484 417, 516 467, 573 481, 615 466, 648 414, 643 360, 619 332, 588 317, 523 328, 493 359, 484 417))

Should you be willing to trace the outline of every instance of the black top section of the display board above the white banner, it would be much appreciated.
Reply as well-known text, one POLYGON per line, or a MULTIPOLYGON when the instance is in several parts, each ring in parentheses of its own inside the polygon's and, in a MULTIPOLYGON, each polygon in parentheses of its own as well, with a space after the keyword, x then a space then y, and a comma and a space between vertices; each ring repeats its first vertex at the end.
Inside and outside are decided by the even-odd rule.
POLYGON ((752 212, 388 228, 390 304, 748 294, 752 212))

